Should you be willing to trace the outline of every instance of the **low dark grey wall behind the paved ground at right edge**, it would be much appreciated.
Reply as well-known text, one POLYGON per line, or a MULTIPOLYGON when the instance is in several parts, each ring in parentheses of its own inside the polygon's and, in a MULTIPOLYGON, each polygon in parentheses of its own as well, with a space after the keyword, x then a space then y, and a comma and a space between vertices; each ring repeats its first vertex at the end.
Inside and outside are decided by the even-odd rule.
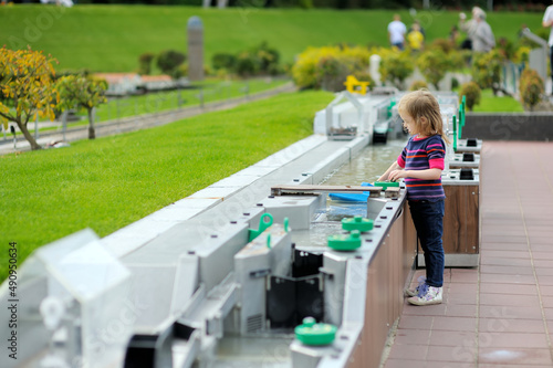
POLYGON ((553 140, 553 113, 467 113, 462 138, 553 140))

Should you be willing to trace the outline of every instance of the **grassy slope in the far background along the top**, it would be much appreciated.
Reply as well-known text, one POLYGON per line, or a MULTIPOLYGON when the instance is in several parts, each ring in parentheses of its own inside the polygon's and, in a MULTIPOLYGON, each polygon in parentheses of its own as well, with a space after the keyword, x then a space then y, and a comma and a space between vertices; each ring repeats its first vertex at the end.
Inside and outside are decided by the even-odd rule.
MULTIPOLYGON (((186 22, 199 15, 205 27, 206 61, 217 52, 238 52, 268 41, 284 62, 306 46, 337 42, 387 45, 386 27, 393 11, 201 9, 191 7, 43 6, 0 7, 0 44, 44 50, 60 61, 58 69, 133 71, 138 55, 177 49, 186 52, 186 22)), ((410 24, 413 17, 400 12, 410 24)), ((541 13, 489 14, 495 36, 517 40, 522 23, 531 30, 541 13)), ((428 40, 445 38, 457 12, 419 11, 428 40)))

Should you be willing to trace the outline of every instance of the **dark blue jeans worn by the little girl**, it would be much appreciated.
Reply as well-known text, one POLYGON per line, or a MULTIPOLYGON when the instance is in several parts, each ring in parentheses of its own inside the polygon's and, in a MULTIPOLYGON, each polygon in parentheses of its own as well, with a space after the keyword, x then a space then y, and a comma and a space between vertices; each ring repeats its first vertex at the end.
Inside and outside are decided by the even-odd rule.
POLYGON ((425 251, 426 283, 429 286, 441 287, 445 266, 444 244, 441 242, 444 214, 446 213, 445 201, 409 201, 409 209, 420 246, 425 251))

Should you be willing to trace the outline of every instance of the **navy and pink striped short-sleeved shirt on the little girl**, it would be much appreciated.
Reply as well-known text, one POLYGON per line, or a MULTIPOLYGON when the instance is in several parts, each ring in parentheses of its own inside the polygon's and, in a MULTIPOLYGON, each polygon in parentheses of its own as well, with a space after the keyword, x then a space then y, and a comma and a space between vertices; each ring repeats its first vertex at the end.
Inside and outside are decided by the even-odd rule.
MULTIPOLYGON (((444 170, 444 158, 446 145, 439 135, 425 138, 413 136, 407 141, 397 164, 406 170, 444 170)), ((436 201, 445 199, 441 178, 436 180, 422 180, 406 178, 407 199, 436 201)))

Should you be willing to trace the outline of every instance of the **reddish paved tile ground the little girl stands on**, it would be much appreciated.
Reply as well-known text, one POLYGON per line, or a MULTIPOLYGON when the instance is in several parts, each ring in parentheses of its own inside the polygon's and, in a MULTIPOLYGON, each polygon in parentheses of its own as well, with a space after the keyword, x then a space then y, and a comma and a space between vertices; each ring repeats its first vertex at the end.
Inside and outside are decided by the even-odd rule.
POLYGON ((446 270, 444 304, 405 305, 385 368, 553 367, 553 144, 481 157, 480 266, 446 270))

